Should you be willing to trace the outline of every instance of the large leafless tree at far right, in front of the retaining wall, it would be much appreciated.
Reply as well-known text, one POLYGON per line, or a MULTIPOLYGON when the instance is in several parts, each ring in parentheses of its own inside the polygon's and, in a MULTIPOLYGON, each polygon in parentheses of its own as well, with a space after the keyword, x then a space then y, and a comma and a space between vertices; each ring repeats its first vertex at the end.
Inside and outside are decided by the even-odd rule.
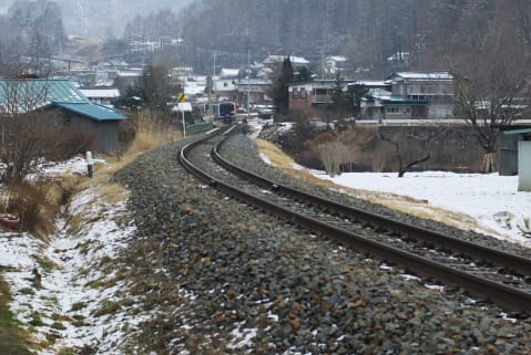
POLYGON ((529 112, 530 58, 513 42, 511 30, 477 32, 476 41, 451 60, 456 113, 470 124, 484 150, 482 170, 497 170, 500 126, 513 124, 529 112))

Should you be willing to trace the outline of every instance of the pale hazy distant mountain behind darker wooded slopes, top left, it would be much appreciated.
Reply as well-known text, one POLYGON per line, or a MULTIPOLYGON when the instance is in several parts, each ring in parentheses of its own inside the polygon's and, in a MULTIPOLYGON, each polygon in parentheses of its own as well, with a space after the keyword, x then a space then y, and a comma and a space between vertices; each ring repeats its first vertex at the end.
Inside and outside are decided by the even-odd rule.
MULTIPOLYGON (((55 0, 62 10, 67 34, 101 38, 121 36, 124 24, 135 14, 147 14, 164 8, 176 11, 192 1, 55 0)), ((7 4, 0 4, 0 13, 7 12, 14 2, 16 0, 7 0, 7 4)))

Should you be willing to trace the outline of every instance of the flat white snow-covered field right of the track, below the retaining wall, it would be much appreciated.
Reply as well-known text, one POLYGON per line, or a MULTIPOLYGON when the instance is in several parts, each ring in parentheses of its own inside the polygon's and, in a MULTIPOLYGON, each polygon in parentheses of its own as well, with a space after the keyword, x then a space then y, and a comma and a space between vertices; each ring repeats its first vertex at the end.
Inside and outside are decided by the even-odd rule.
POLYGON ((428 200, 430 205, 463 212, 506 238, 531 247, 531 192, 518 191, 518 176, 453 174, 446 171, 348 173, 330 178, 315 176, 346 187, 392 192, 428 200))

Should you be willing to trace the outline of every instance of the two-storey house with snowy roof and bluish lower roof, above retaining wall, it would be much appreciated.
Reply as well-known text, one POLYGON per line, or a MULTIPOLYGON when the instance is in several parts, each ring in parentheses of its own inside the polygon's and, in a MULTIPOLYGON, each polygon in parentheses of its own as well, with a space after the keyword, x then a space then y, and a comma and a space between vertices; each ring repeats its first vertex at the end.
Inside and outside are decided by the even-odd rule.
POLYGON ((386 83, 386 90, 369 90, 362 100, 364 118, 453 118, 453 77, 449 72, 397 72, 386 83))

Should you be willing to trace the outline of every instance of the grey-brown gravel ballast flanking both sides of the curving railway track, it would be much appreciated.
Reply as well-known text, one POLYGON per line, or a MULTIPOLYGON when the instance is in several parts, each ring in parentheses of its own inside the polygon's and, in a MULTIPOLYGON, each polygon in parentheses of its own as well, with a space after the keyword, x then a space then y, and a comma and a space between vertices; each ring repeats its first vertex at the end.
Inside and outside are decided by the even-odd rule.
MULTIPOLYGON (((429 285, 227 199, 178 165, 182 145, 151 152, 116 175, 133 192, 141 231, 137 248, 124 257, 139 276, 145 306, 157 314, 145 323, 137 352, 530 354, 530 320, 507 319, 499 307, 459 290, 429 285)), ((245 136, 231 139, 222 153, 300 185, 262 163, 245 136)), ((464 238, 517 248, 474 233, 464 238)))

